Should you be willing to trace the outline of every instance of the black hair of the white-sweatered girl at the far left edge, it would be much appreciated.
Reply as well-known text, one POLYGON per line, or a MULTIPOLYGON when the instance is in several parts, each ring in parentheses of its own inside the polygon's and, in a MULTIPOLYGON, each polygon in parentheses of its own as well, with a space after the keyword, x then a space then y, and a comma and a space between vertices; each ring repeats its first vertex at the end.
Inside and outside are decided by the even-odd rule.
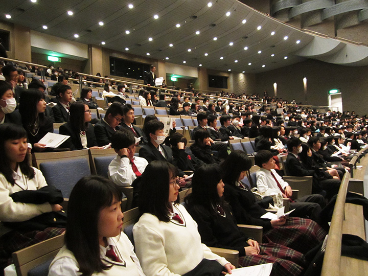
MULTIPOLYGON (((12 186, 15 184, 13 178, 13 170, 10 168, 9 158, 5 151, 5 142, 8 140, 18 140, 22 138, 27 138, 27 132, 21 126, 15 124, 2 124, 0 125, 0 173, 2 173, 5 178, 11 183, 12 186)), ((34 170, 29 165, 28 162, 28 151, 26 157, 18 166, 22 174, 24 174, 28 179, 32 179, 35 175, 34 170)))

